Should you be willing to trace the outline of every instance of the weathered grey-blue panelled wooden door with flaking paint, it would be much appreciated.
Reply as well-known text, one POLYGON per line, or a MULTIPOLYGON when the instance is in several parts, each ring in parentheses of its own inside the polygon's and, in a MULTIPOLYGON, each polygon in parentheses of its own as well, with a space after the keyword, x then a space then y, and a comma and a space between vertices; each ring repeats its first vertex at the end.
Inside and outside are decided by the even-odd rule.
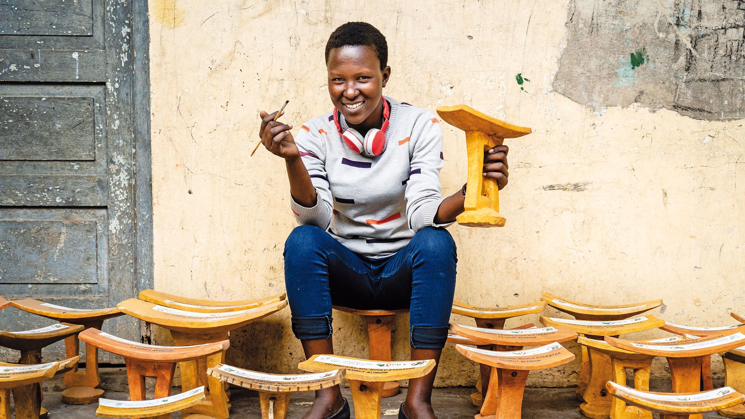
MULTIPOLYGON (((9 300, 104 308, 138 292, 133 31, 146 31, 143 21, 136 28, 132 2, 118 0, 0 2, 0 295, 9 300)), ((0 312, 0 329, 51 323, 0 312)), ((105 328, 139 338, 128 316, 105 328)), ((43 353, 61 358, 63 346, 43 353)))

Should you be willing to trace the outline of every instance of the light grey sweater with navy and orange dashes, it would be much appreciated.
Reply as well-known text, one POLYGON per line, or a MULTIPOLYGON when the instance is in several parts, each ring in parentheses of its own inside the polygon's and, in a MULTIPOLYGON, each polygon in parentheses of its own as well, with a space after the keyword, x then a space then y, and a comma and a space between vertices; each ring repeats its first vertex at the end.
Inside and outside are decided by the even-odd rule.
MULTIPOLYGON (((295 142, 318 199, 312 208, 291 198, 299 224, 328 231, 362 256, 380 258, 404 248, 414 233, 435 224, 443 201, 443 132, 428 110, 387 98, 390 124, 378 157, 352 151, 341 139, 332 113, 300 127, 295 142)), ((340 118, 342 130, 347 125, 340 118)))

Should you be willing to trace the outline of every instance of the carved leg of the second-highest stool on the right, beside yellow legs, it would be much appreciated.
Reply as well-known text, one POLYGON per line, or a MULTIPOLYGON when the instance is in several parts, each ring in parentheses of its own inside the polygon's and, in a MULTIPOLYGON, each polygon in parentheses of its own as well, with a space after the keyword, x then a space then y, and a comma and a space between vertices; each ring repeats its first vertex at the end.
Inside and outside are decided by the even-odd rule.
POLYGON ((580 404, 580 412, 592 419, 609 419, 612 396, 608 394, 605 383, 612 379, 610 356, 588 348, 590 360, 590 380, 584 394, 585 403, 580 404))

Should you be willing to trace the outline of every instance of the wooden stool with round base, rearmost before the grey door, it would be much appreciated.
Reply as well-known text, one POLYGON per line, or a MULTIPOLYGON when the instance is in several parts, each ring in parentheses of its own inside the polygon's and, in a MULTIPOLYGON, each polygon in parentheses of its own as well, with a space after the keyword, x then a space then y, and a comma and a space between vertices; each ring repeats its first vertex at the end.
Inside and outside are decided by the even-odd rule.
MULTIPOLYGON (((56 306, 50 303, 26 298, 24 300, 11 301, 16 309, 51 318, 56 321, 66 321, 70 324, 80 324, 83 330, 91 327, 101 329, 107 318, 124 315, 116 308, 111 309, 71 309, 69 307, 56 306)), ((78 356, 80 353, 80 341, 77 335, 65 339, 65 353, 68 358, 78 356)), ((104 394, 101 388, 95 388, 101 383, 98 377, 98 349, 86 346, 86 371, 77 371, 77 365, 72 371, 65 374, 65 386, 62 392, 62 401, 68 404, 94 403, 104 394)))

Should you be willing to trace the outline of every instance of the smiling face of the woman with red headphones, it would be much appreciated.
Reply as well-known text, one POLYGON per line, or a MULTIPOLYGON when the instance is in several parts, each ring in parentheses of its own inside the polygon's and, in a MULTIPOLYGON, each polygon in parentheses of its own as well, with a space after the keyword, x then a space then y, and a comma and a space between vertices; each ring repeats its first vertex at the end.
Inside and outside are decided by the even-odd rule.
POLYGON ((361 133, 383 123, 383 87, 390 66, 381 70, 375 50, 368 45, 344 45, 329 52, 329 95, 349 126, 361 133))

